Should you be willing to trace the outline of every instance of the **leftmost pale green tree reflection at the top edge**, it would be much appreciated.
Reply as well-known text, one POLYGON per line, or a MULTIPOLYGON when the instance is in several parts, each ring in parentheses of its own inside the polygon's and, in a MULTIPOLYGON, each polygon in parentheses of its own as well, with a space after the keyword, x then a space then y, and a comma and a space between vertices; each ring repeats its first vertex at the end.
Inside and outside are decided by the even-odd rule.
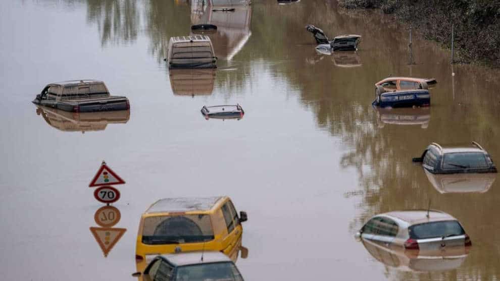
POLYGON ((137 38, 140 25, 135 0, 86 0, 87 20, 95 22, 101 43, 122 43, 137 38))

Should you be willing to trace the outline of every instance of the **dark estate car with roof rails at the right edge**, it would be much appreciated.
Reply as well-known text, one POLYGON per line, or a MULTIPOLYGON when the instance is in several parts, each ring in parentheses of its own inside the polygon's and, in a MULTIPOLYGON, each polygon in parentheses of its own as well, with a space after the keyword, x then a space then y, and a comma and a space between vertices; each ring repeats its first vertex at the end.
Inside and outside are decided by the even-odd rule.
POLYGON ((444 146, 433 142, 413 162, 422 162, 432 174, 496 173, 488 152, 477 142, 470 146, 444 146))

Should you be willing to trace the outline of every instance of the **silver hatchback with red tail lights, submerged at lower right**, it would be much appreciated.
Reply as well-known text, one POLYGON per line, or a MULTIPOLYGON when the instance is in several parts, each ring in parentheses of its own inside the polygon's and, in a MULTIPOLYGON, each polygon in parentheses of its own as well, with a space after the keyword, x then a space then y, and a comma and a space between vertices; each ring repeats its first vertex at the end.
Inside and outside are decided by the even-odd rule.
POLYGON ((463 249, 471 240, 460 222, 437 210, 404 210, 382 213, 370 218, 357 238, 385 244, 395 251, 418 257, 436 251, 463 249))

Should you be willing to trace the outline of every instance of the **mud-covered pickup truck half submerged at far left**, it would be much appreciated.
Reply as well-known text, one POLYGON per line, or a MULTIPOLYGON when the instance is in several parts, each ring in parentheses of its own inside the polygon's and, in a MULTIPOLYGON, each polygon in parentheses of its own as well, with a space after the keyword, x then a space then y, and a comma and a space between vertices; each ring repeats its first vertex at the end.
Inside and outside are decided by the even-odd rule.
POLYGON ((124 96, 112 96, 103 81, 71 80, 46 85, 34 104, 72 112, 130 109, 124 96))

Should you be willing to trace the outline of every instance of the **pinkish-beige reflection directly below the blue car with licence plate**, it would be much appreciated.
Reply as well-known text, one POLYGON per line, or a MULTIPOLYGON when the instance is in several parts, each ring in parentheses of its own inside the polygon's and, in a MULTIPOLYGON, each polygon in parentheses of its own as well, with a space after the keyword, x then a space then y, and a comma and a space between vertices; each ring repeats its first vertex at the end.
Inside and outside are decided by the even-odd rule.
POLYGON ((422 129, 429 127, 429 107, 387 108, 374 106, 373 108, 377 111, 378 128, 384 128, 385 124, 420 125, 422 129))

